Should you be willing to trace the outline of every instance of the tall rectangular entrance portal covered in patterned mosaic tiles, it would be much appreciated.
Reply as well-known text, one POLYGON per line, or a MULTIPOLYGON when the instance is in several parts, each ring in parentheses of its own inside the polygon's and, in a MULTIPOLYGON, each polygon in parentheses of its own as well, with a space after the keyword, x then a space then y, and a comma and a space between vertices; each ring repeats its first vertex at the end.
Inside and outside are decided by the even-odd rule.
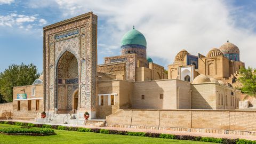
POLYGON ((77 109, 95 117, 97 15, 92 12, 44 27, 44 111, 77 109))

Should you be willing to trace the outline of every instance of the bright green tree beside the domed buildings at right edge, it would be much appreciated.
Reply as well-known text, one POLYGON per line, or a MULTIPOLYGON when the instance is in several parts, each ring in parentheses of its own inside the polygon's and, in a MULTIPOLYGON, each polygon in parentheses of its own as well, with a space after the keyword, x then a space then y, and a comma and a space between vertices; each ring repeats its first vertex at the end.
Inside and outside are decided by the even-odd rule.
POLYGON ((241 77, 239 82, 242 83, 241 90, 253 97, 256 97, 256 73, 255 69, 248 67, 248 69, 240 69, 241 77))

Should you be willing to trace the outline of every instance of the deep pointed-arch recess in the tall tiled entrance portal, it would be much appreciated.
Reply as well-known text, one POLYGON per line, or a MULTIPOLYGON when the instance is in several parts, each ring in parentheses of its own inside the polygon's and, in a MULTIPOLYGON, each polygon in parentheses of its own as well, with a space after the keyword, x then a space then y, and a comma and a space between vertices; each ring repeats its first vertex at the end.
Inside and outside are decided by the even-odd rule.
POLYGON ((78 85, 78 62, 69 51, 63 53, 57 63, 57 96, 56 108, 60 113, 73 109, 73 93, 78 85))

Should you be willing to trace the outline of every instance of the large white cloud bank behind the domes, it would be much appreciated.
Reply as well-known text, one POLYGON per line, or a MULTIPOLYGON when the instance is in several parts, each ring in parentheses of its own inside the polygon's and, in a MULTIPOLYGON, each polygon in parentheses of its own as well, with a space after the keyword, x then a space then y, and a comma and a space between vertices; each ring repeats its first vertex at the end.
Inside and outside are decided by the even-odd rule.
MULTIPOLYGON (((229 40, 239 47, 241 60, 246 66, 256 68, 256 63, 252 60, 256 53, 256 34, 253 33, 256 26, 255 15, 237 15, 237 11, 244 7, 234 7, 231 1, 55 2, 64 17, 89 11, 97 14, 99 25, 104 24, 99 29, 98 42, 104 45, 119 45, 122 36, 135 25, 147 39, 147 54, 162 58, 165 67, 173 62, 181 49, 195 55, 198 52, 206 55, 213 47, 219 47, 229 40)), ((102 49, 119 51, 106 47, 102 46, 102 49)))

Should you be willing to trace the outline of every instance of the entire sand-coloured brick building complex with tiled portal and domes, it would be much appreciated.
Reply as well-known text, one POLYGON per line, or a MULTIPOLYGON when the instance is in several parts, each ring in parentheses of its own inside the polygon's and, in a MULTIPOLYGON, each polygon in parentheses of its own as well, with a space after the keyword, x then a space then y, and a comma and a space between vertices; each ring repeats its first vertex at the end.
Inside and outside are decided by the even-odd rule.
POLYGON ((91 119, 106 119, 121 109, 238 109, 241 91, 220 80, 244 63, 238 48, 225 51, 233 54, 226 58, 225 46, 234 48, 228 43, 206 57, 181 50, 167 75, 147 57, 146 38, 133 27, 121 40, 121 55, 97 65, 97 15, 79 15, 44 27, 42 83, 13 88, 13 115, 29 119, 42 111, 75 111, 82 121, 85 111, 91 119))

